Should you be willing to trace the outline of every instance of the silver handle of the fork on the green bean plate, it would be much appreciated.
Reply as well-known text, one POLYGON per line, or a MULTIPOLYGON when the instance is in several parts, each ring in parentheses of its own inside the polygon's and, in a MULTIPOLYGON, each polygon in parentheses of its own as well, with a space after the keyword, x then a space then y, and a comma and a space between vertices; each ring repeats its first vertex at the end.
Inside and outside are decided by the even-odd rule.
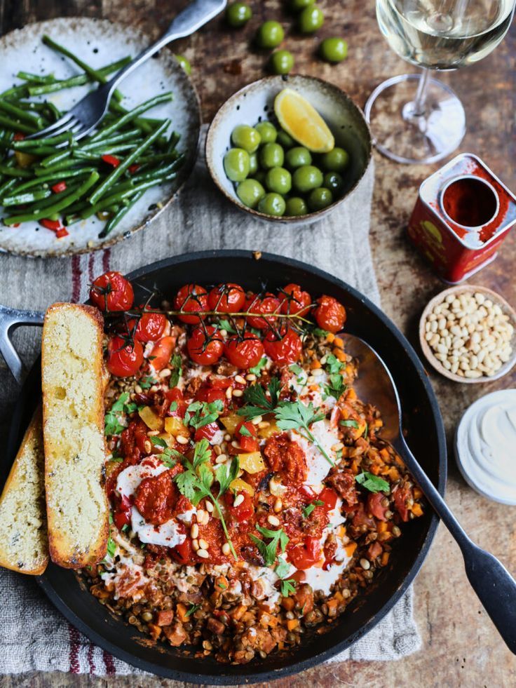
POLYGON ((171 41, 194 34, 197 29, 200 29, 201 26, 205 25, 216 17, 217 14, 222 12, 226 6, 226 2, 227 0, 194 0, 194 2, 184 8, 182 12, 179 12, 165 34, 161 36, 161 39, 158 39, 156 43, 152 43, 151 46, 142 50, 140 55, 137 55, 128 65, 125 65, 120 72, 115 74, 112 79, 102 86, 102 89, 107 90, 109 96, 111 96, 118 86, 118 83, 120 83, 122 79, 125 79, 125 76, 134 72, 137 67, 140 67, 143 62, 148 60, 154 53, 157 53, 158 50, 168 45, 171 41))

